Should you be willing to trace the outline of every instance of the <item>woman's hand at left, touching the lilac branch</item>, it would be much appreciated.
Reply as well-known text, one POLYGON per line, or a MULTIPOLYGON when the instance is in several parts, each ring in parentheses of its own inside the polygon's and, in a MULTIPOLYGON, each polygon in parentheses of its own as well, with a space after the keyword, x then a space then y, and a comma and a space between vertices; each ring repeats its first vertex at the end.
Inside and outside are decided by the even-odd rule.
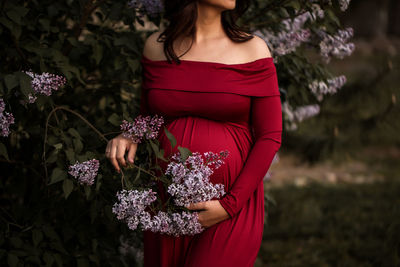
POLYGON ((137 146, 138 144, 122 136, 122 134, 108 141, 105 154, 118 173, 121 172, 120 165, 123 167, 127 165, 125 161, 126 151, 128 151, 127 160, 129 163, 133 164, 137 146), (118 165, 118 163, 120 165, 118 165))

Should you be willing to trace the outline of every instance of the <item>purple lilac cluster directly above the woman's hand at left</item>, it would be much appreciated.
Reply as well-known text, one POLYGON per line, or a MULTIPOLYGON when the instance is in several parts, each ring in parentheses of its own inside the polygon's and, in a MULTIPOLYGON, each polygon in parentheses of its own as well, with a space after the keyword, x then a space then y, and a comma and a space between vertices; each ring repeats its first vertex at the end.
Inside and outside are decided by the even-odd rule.
POLYGON ((153 117, 139 115, 133 123, 123 120, 120 127, 123 131, 122 136, 131 139, 134 143, 141 143, 143 138, 155 139, 163 123, 164 118, 157 114, 153 117))

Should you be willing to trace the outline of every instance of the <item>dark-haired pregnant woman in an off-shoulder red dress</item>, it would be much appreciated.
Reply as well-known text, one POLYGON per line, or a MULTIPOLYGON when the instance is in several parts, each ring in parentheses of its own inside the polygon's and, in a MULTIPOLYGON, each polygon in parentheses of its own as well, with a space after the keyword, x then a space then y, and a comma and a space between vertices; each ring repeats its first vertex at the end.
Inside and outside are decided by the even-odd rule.
MULTIPOLYGON (((162 115, 178 145, 191 151, 227 149, 225 164, 210 177, 227 194, 189 207, 200 211, 206 228, 201 234, 144 231, 144 265, 253 266, 264 226, 263 177, 282 133, 270 51, 235 24, 248 8, 245 0, 168 0, 164 6, 170 23, 150 35, 143 50, 140 113, 162 115)), ((163 131, 158 140, 165 155, 177 151, 163 131)), ((125 153, 133 163, 136 149, 120 135, 108 143, 106 155, 119 172, 125 153)))

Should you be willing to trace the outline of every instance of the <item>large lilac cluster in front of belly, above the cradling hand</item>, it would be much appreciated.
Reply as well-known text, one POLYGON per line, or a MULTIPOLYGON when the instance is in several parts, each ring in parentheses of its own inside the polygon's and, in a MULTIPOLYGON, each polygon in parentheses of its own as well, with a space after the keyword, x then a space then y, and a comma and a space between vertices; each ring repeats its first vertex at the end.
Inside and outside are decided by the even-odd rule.
POLYGON ((213 170, 223 163, 222 158, 228 155, 228 151, 215 154, 206 152, 204 156, 198 152, 192 153, 185 161, 181 161, 179 152, 171 158, 171 162, 165 171, 165 175, 172 177, 172 183, 168 186, 168 193, 174 197, 178 206, 186 206, 191 203, 211 200, 225 194, 223 184, 212 184, 209 180, 213 170))

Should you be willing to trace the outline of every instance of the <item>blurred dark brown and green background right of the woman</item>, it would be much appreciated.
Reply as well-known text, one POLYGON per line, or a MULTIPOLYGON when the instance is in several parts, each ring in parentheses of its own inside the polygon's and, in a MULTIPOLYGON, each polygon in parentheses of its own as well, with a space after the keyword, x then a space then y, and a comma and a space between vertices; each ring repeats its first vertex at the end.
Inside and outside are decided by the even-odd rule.
POLYGON ((283 138, 258 266, 400 266, 400 1, 339 19, 356 48, 329 68, 347 83, 283 138))

